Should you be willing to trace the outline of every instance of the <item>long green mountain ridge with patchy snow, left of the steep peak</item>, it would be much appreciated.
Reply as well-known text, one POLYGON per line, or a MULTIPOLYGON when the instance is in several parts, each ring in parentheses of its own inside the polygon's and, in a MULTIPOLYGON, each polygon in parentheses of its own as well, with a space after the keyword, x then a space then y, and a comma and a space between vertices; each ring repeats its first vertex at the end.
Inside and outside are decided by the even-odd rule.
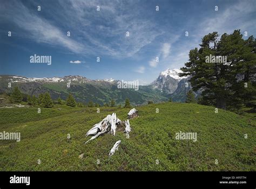
POLYGON ((119 89, 118 80, 115 79, 97 79, 91 80, 82 76, 65 76, 63 78, 28 78, 22 76, 0 75, 0 94, 11 94, 14 87, 23 93, 24 99, 27 95, 35 95, 49 92, 53 100, 59 97, 63 100, 68 98, 71 93, 77 102, 98 103, 103 105, 109 103, 111 99, 116 100, 117 104, 130 99, 131 104, 145 104, 149 100, 154 102, 167 101, 158 90, 152 89, 152 86, 140 86, 139 90, 119 89))

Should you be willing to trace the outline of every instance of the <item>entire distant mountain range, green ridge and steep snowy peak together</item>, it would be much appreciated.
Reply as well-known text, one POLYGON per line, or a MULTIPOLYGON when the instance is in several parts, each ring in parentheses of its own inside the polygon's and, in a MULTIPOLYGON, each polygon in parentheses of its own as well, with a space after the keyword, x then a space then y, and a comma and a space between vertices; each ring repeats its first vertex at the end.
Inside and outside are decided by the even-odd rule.
POLYGON ((49 92, 52 99, 58 97, 66 99, 69 93, 77 102, 94 103, 103 105, 115 99, 117 104, 124 103, 126 98, 131 104, 143 105, 149 100, 154 103, 166 102, 171 97, 174 102, 184 102, 186 92, 191 89, 188 78, 179 77, 178 69, 167 69, 149 85, 139 86, 139 90, 118 89, 118 80, 97 79, 91 80, 82 76, 65 76, 63 78, 28 78, 23 76, 0 76, 0 93, 11 93, 12 87, 18 86, 26 95, 38 96, 40 93, 49 92), (11 87, 8 85, 11 84, 11 87), (187 87, 186 87, 187 86, 187 87))

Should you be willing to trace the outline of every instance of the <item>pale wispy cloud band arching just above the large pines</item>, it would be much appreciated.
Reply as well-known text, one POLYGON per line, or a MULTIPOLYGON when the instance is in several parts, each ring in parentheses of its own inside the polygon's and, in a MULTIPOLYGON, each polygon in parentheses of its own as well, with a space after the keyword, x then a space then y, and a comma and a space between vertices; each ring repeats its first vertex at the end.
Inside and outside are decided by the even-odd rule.
MULTIPOLYGON (((200 48, 201 38, 210 32, 217 31, 219 35, 223 35, 225 32, 232 33, 235 29, 241 29, 242 34, 244 31, 253 31, 255 34, 255 17, 254 19, 250 17, 253 12, 256 14, 255 10, 256 1, 238 1, 225 9, 219 5, 219 11, 214 11, 214 14, 201 18, 194 30, 189 30, 189 28, 193 28, 191 25, 194 26, 194 22, 188 22, 190 25, 184 25, 184 28, 190 32, 190 35, 175 44, 174 54, 168 57, 166 67, 173 69, 184 66, 184 63, 188 61, 190 50, 196 47, 200 48)), ((252 34, 251 32, 248 36, 252 34)), ((184 35, 181 35, 182 37, 184 35)))

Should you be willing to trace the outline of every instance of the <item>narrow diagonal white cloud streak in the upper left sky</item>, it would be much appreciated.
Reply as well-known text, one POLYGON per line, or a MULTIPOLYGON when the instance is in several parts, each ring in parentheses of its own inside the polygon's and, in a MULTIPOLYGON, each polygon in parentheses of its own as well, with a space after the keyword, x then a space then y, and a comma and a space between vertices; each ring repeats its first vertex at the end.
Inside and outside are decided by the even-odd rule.
MULTIPOLYGON (((9 9, 9 5, 4 4, 2 9, 9 9)), ((87 49, 84 44, 69 38, 65 35, 66 33, 64 31, 61 31, 57 26, 52 25, 46 19, 39 17, 39 14, 33 14, 20 2, 16 2, 12 5, 12 9, 9 9, 9 11, 2 16, 5 16, 7 19, 11 17, 11 21, 18 25, 19 28, 28 32, 25 34, 25 37, 29 37, 37 43, 61 46, 62 48, 75 53, 81 53, 84 49, 87 49)))

